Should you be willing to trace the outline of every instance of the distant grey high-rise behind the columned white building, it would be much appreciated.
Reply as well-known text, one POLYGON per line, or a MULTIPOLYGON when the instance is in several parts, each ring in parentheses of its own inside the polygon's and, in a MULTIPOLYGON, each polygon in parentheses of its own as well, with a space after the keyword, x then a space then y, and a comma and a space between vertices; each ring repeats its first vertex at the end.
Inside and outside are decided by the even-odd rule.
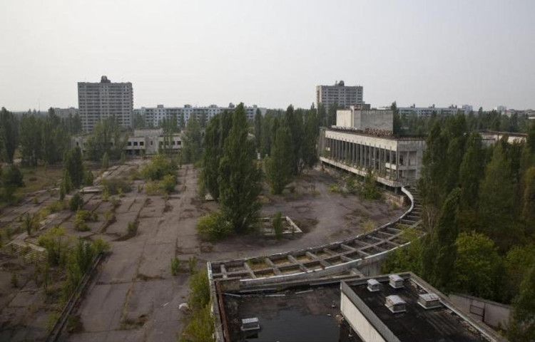
POLYGON ((344 81, 336 82, 334 86, 316 87, 316 105, 329 108, 337 105, 339 108, 350 108, 352 105, 362 105, 364 88, 362 86, 345 86, 344 81))

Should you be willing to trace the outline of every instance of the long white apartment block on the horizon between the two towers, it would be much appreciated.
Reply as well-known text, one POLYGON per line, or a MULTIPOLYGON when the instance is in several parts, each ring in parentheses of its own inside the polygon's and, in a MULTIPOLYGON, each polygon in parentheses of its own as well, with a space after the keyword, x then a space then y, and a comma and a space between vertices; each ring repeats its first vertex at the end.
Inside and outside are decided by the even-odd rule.
MULTIPOLYGON (((215 115, 222 113, 225 110, 234 110, 235 105, 229 103, 228 107, 219 107, 218 105, 208 105, 203 107, 193 107, 191 105, 184 105, 183 107, 164 107, 164 105, 157 105, 156 107, 146 108, 141 107, 133 110, 134 114, 141 115, 145 118, 145 123, 148 127, 158 127, 164 119, 170 120, 176 116, 177 125, 180 125, 180 119, 184 119, 184 123, 188 123, 191 117, 195 116, 197 120, 203 115, 206 115, 206 120, 210 120, 215 115)), ((260 108, 257 105, 245 107, 247 118, 254 120, 256 111, 260 110, 262 115, 265 115, 267 108, 260 108)))

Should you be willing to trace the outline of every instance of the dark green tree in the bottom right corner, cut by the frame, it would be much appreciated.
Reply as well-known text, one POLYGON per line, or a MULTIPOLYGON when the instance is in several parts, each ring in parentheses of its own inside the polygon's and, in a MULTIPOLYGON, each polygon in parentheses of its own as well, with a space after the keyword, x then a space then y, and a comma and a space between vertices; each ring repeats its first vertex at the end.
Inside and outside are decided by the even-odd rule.
POLYGON ((507 335, 511 342, 535 341, 535 264, 531 265, 513 301, 507 335))

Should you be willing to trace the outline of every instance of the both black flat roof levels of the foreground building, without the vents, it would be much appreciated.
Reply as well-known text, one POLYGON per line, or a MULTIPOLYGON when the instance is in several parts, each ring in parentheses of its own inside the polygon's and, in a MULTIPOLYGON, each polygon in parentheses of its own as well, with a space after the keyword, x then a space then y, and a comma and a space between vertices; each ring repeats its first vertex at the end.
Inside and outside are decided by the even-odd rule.
MULTIPOLYGON (((340 306, 342 291, 350 289, 369 308, 368 314, 376 316, 375 321, 383 324, 390 336, 393 334, 392 341, 504 341, 488 326, 462 314, 447 297, 414 274, 407 272, 399 276, 404 285, 402 289, 389 286, 388 274, 280 281, 227 291, 223 280, 220 286, 215 286, 219 289, 219 308, 223 308, 219 313, 223 319, 216 325, 226 325, 230 341, 360 342, 363 340, 344 318, 340 306), (379 291, 368 291, 370 279, 377 279, 381 284, 379 291), (439 308, 426 310, 417 304, 420 294, 429 293, 437 294, 441 302, 439 308), (406 302, 405 312, 393 314, 385 306, 386 297, 392 295, 406 302), (241 327, 242 320, 247 318, 258 318, 260 330, 245 335, 241 327)), ((233 282, 228 281, 229 284, 233 282)))

